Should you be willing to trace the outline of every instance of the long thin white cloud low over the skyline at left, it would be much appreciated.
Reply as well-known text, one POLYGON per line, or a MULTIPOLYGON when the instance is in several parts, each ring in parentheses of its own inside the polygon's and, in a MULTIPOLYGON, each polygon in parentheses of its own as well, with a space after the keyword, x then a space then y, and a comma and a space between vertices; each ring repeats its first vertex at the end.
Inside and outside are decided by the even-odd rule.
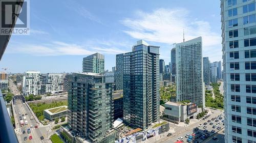
POLYGON ((25 53, 34 56, 56 56, 56 55, 90 55, 95 52, 105 53, 105 54, 118 54, 126 52, 125 50, 118 48, 108 48, 108 47, 97 47, 91 46, 81 46, 77 44, 70 44, 60 41, 53 41, 51 43, 45 44, 20 44, 14 43, 9 45, 7 48, 9 53, 25 53))

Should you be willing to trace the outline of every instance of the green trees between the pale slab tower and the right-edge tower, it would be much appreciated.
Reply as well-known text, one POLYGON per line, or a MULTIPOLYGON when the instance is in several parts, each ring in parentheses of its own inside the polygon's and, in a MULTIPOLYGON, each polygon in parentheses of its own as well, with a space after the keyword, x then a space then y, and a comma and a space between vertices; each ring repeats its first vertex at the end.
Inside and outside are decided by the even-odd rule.
POLYGON ((224 107, 224 98, 219 91, 220 83, 212 83, 211 86, 214 89, 215 99, 212 98, 211 91, 205 91, 205 105, 207 107, 223 109, 224 107))

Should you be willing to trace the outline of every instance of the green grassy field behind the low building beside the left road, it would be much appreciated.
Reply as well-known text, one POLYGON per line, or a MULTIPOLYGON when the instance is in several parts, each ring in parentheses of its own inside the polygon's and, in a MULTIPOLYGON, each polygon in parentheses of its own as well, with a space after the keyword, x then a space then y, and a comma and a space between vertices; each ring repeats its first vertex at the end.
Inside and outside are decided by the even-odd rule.
POLYGON ((52 103, 30 103, 29 106, 35 113, 36 117, 42 121, 45 119, 44 117, 44 110, 49 108, 54 108, 58 106, 68 105, 68 101, 61 101, 61 102, 52 102, 52 103))

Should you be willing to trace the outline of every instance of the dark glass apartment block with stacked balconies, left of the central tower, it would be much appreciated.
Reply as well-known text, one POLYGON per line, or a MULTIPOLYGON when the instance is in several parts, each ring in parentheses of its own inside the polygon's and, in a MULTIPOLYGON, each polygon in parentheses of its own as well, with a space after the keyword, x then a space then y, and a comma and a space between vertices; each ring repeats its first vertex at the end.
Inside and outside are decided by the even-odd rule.
POLYGON ((68 123, 74 134, 90 142, 114 142, 113 83, 95 73, 69 77, 68 123))

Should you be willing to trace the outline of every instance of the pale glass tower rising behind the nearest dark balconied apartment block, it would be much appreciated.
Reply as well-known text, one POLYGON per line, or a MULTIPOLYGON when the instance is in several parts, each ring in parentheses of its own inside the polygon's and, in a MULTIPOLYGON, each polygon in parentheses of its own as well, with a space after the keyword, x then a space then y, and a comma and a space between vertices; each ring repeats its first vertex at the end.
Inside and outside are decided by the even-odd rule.
POLYGON ((83 58, 82 72, 102 74, 104 72, 104 55, 94 53, 83 58))

